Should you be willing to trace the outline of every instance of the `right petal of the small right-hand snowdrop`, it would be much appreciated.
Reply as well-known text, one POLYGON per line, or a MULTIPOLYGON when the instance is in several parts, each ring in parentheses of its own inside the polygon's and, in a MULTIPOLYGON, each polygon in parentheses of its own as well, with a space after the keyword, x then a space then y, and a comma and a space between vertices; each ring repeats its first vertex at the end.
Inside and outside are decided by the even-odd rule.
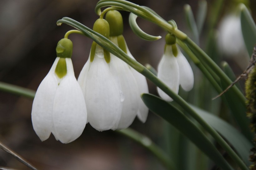
POLYGON ((180 69, 180 85, 185 91, 190 91, 194 86, 193 71, 186 57, 181 53, 179 47, 177 48, 177 62, 180 69))

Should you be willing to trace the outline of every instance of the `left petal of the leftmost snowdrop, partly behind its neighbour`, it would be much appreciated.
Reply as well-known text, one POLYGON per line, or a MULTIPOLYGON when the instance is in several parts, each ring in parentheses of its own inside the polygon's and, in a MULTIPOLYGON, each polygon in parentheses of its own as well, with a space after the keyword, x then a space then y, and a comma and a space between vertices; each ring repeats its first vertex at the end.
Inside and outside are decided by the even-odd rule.
POLYGON ((32 105, 32 125, 42 141, 49 138, 53 129, 53 102, 58 87, 54 72, 58 61, 59 57, 56 58, 49 73, 39 85, 32 105))

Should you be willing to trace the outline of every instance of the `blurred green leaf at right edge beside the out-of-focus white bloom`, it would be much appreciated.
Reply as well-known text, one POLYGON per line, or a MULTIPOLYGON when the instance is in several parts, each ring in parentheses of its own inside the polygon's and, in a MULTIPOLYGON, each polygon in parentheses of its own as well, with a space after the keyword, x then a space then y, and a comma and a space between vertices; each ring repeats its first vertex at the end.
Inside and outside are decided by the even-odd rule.
POLYGON ((253 53, 254 45, 256 44, 256 25, 248 9, 244 4, 240 4, 241 10, 241 26, 244 37, 244 43, 249 56, 253 53))

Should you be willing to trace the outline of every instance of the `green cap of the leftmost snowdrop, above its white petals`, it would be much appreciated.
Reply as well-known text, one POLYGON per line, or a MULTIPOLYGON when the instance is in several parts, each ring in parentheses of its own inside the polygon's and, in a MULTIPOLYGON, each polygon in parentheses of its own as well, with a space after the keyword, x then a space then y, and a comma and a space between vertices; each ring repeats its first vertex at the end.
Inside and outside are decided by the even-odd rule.
POLYGON ((73 43, 70 39, 61 39, 56 47, 57 57, 71 58, 73 51, 73 43))

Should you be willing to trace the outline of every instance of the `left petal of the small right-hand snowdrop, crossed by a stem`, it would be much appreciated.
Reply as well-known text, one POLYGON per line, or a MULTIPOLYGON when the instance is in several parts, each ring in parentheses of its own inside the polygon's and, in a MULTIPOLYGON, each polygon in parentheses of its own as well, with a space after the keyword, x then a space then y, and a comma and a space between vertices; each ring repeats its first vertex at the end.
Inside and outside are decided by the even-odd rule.
MULTIPOLYGON (((166 53, 163 55, 158 65, 157 77, 162 80, 171 90, 176 94, 179 91, 180 73, 176 57, 172 54, 171 46, 166 46, 166 53)), ((158 94, 161 98, 167 101, 173 101, 170 96, 165 94, 160 88, 157 87, 158 94)))

